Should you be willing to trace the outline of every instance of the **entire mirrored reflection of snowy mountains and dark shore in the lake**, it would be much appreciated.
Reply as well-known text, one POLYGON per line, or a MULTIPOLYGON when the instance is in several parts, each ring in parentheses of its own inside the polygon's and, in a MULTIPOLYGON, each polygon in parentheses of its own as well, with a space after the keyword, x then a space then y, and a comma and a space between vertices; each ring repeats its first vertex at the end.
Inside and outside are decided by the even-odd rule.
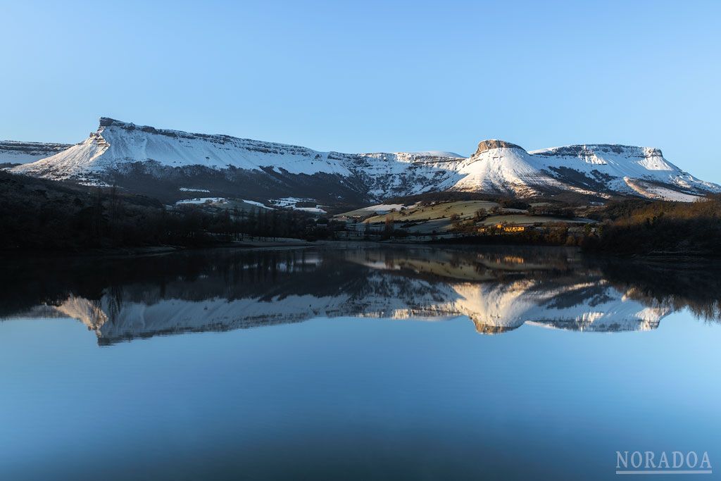
POLYGON ((466 316, 483 334, 524 323, 650 330, 685 306, 717 319, 721 282, 708 266, 670 272, 589 260, 572 250, 523 247, 212 250, 6 265, 0 317, 71 317, 103 345, 339 316, 466 316), (707 282, 688 281, 699 275, 707 282))

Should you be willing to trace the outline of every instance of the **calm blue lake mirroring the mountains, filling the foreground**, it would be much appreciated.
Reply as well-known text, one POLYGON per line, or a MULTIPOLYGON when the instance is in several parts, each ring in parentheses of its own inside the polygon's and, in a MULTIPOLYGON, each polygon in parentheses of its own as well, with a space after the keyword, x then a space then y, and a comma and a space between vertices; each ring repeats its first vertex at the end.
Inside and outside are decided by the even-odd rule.
POLYGON ((716 265, 353 245, 3 264, 0 480, 623 479, 616 451, 706 451, 689 478, 720 476, 716 265))

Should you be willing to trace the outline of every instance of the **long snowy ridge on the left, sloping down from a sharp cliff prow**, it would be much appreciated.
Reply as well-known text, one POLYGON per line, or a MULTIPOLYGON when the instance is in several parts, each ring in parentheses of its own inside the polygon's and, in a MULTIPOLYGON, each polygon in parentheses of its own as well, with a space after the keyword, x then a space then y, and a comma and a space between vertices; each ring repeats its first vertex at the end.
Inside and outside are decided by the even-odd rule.
POLYGON ((85 141, 13 171, 89 184, 113 182, 149 195, 164 188, 168 200, 183 198, 180 187, 193 183, 213 193, 263 201, 298 197, 361 203, 435 190, 439 183, 450 187, 459 177, 442 169, 455 159, 444 154, 320 152, 101 118, 97 132, 85 141))

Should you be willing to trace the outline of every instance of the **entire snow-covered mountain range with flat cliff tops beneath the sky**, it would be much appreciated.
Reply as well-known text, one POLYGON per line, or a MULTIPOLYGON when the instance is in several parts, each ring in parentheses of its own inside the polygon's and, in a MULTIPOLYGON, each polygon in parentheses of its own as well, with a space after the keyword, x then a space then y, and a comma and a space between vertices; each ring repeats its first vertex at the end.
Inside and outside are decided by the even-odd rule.
POLYGON ((12 171, 113 182, 161 198, 182 198, 188 189, 202 189, 264 202, 297 197, 369 203, 446 190, 670 200, 721 192, 719 185, 696 179, 649 147, 588 144, 526 151, 487 140, 469 158, 443 151, 341 154, 110 118, 101 118, 97 132, 80 144, 12 171))

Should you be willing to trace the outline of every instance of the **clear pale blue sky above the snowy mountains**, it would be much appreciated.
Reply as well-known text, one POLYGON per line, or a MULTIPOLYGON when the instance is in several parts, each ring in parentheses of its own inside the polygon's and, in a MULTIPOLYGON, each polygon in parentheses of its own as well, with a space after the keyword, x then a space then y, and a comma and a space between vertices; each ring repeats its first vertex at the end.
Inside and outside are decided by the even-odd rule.
POLYGON ((0 0, 0 138, 657 146, 721 182, 721 1, 0 0))

